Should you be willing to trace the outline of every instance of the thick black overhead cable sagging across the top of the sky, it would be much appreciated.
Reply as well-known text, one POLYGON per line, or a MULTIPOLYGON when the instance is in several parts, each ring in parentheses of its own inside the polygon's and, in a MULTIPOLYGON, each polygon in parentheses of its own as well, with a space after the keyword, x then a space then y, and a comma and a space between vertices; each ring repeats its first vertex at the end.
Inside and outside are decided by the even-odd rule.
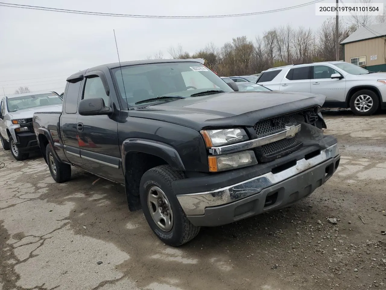
POLYGON ((199 16, 117 14, 117 13, 104 13, 104 12, 90 12, 90 11, 81 11, 81 10, 59 9, 59 8, 32 6, 32 5, 21 5, 21 4, 5 3, 5 2, 0 2, 0 6, 22 8, 22 9, 33 9, 33 10, 64 12, 64 13, 73 13, 73 14, 110 16, 110 17, 158 18, 158 19, 163 19, 163 18, 166 18, 166 19, 198 19, 198 18, 240 17, 240 16, 250 16, 250 15, 259 15, 259 14, 273 13, 273 12, 279 12, 279 11, 285 11, 285 10, 300 8, 300 7, 304 7, 304 6, 307 6, 307 5, 312 5, 312 4, 315 4, 315 3, 318 3, 318 2, 322 2, 322 1, 323 0, 313 0, 311 2, 307 2, 307 3, 303 3, 303 4, 299 4, 299 5, 294 5, 294 6, 280 8, 280 9, 274 9, 274 10, 260 11, 260 12, 241 13, 241 14, 225 14, 225 15, 199 15, 199 16))

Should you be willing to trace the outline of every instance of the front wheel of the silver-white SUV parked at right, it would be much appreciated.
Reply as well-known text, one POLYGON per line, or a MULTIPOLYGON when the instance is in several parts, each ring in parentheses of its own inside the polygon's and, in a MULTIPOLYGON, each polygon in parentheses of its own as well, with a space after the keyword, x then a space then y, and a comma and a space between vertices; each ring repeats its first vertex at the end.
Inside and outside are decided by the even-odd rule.
POLYGON ((371 90, 359 90, 350 99, 351 111, 358 116, 370 116, 378 110, 378 107, 378 96, 371 90))

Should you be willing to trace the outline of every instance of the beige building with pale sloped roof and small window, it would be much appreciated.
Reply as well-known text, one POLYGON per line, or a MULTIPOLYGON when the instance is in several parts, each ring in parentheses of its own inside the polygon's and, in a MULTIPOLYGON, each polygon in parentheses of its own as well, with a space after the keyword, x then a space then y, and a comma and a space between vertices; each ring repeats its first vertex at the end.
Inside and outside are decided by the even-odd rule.
POLYGON ((361 27, 340 44, 345 61, 372 72, 386 72, 386 23, 361 27))

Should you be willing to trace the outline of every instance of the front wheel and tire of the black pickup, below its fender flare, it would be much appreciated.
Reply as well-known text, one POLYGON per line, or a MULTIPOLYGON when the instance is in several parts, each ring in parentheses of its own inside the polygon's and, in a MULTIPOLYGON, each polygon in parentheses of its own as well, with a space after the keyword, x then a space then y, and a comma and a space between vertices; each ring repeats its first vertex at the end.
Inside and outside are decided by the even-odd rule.
POLYGON ((200 227, 193 225, 181 208, 171 184, 183 179, 169 165, 154 167, 141 178, 139 194, 147 223, 165 244, 180 246, 193 239, 200 227))

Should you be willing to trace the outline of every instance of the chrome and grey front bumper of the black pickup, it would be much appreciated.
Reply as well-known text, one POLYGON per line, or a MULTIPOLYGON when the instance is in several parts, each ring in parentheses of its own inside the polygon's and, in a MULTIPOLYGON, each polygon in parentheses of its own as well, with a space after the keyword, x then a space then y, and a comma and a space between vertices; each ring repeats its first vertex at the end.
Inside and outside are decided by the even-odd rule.
MULTIPOLYGON (((223 225, 288 206, 325 183, 339 165, 336 139, 326 149, 313 152, 304 154, 296 162, 288 161, 280 171, 276 167, 276 170, 273 168, 261 175, 257 172, 259 176, 226 187, 177 194, 178 201, 188 219, 200 226, 223 225)), ((207 181, 207 177, 201 179, 204 183, 207 181)), ((199 183, 200 177, 195 182, 199 183)))

